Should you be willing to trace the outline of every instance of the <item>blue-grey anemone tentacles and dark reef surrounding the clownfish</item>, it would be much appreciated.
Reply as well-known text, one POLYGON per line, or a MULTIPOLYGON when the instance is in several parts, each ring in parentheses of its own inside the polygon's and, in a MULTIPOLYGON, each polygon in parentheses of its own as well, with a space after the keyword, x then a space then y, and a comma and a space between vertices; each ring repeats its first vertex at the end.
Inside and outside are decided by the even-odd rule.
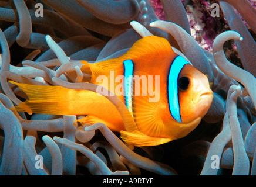
POLYGON ((1 175, 256 174, 256 1, 1 0, 0 6, 1 175), (74 122, 81 116, 9 109, 26 99, 9 80, 93 89, 83 84, 80 60, 120 56, 149 33, 168 39, 211 82, 211 108, 186 137, 133 147, 102 123, 85 130, 87 124, 74 122))

